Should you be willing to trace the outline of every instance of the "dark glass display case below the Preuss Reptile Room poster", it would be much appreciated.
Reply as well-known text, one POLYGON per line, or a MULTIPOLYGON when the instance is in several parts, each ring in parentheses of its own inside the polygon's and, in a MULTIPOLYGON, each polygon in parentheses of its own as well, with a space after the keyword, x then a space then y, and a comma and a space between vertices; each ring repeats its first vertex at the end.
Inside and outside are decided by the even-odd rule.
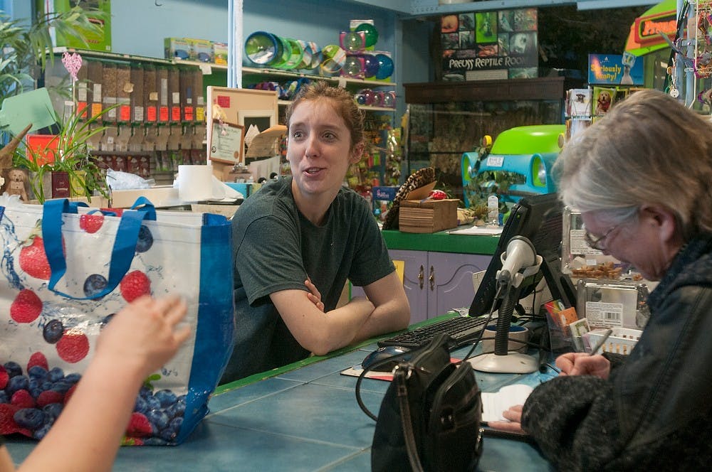
POLYGON ((404 170, 432 166, 454 198, 463 198, 462 154, 481 146, 486 134, 496 139, 512 127, 563 123, 571 86, 565 77, 405 84, 404 170))

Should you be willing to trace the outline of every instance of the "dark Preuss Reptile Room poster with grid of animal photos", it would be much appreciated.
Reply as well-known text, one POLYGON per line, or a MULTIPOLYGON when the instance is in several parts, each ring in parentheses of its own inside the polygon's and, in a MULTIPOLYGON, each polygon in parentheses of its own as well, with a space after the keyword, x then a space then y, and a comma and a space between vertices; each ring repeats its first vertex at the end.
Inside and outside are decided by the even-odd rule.
POLYGON ((442 80, 538 76, 537 9, 444 15, 442 80))

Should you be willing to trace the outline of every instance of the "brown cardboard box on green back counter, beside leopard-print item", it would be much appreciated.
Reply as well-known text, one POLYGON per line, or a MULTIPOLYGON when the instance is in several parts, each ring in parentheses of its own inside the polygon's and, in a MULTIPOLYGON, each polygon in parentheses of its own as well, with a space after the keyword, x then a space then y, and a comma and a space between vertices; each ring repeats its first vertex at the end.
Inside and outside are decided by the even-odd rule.
POLYGON ((456 198, 445 200, 403 200, 398 227, 402 232, 438 232, 457 226, 456 198))

